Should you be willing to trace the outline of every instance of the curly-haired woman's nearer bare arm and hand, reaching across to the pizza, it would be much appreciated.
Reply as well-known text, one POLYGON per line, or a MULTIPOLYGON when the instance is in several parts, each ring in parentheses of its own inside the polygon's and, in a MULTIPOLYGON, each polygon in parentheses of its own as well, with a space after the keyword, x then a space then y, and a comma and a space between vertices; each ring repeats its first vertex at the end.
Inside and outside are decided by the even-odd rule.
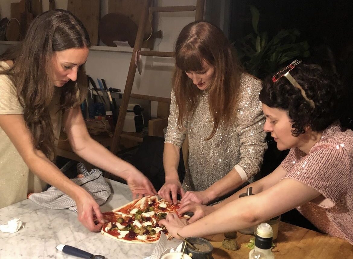
POLYGON ((207 236, 251 227, 273 218, 320 195, 315 189, 293 179, 283 179, 255 195, 235 199, 218 210, 185 225, 175 215, 160 221, 169 233, 177 236, 207 236))

